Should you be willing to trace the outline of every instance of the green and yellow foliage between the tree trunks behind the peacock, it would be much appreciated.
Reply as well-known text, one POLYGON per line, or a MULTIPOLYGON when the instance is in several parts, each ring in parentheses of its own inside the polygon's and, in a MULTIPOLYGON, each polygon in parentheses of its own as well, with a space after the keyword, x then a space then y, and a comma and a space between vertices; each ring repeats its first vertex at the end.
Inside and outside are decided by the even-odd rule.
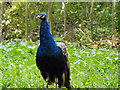
MULTIPOLYGON (((3 37, 4 39, 25 38, 25 2, 10 2, 11 7, 4 2, 3 37)), ((53 35, 64 36, 64 5, 62 2, 51 2, 53 35)), ((66 38, 68 41, 80 41, 86 35, 90 36, 90 8, 91 2, 66 3, 66 38), (85 33, 82 34, 79 28, 85 33)), ((93 7, 94 40, 106 38, 112 31, 112 3, 95 2, 93 7)), ((40 20, 36 16, 41 12, 48 12, 47 2, 28 3, 28 37, 35 38, 34 31, 39 33, 40 20)), ((119 3, 114 7, 115 36, 119 36, 119 3)), ((48 14, 47 14, 48 15, 48 14)), ((48 17, 48 16, 47 16, 48 17)), ((89 38, 87 38, 89 41, 89 38)))

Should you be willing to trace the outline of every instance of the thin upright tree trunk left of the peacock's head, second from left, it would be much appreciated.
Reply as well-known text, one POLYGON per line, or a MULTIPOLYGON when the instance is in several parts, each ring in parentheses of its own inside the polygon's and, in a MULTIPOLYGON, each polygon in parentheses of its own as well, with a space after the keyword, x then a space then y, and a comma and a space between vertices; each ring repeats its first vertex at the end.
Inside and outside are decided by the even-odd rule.
POLYGON ((28 2, 26 0, 25 5, 25 40, 27 40, 28 37, 28 2))

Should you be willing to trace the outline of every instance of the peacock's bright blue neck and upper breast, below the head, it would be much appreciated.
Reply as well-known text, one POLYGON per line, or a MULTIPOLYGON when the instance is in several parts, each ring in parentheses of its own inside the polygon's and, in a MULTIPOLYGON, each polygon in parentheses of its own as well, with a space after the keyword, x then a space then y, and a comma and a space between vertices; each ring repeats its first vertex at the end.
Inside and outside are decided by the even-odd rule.
POLYGON ((45 19, 40 25, 40 53, 52 55, 58 52, 60 52, 60 49, 56 46, 49 30, 49 23, 47 19, 45 19))

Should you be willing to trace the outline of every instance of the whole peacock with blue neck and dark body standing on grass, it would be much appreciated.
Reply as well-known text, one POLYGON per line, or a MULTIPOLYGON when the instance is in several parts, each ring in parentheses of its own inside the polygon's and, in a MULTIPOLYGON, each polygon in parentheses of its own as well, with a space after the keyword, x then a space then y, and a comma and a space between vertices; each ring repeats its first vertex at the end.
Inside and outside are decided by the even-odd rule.
POLYGON ((70 67, 64 43, 56 43, 49 30, 49 23, 45 13, 40 13, 40 45, 36 53, 36 65, 43 79, 48 85, 54 83, 59 88, 65 86, 70 89, 70 67))

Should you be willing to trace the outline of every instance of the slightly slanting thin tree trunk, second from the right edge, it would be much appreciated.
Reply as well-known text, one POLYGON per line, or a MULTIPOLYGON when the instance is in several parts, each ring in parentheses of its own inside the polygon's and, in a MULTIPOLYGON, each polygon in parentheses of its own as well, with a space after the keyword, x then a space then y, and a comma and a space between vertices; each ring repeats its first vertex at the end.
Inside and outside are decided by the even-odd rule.
POLYGON ((90 30, 91 30, 92 41, 93 41, 93 7, 94 7, 94 0, 92 0, 91 11, 90 11, 90 30))

